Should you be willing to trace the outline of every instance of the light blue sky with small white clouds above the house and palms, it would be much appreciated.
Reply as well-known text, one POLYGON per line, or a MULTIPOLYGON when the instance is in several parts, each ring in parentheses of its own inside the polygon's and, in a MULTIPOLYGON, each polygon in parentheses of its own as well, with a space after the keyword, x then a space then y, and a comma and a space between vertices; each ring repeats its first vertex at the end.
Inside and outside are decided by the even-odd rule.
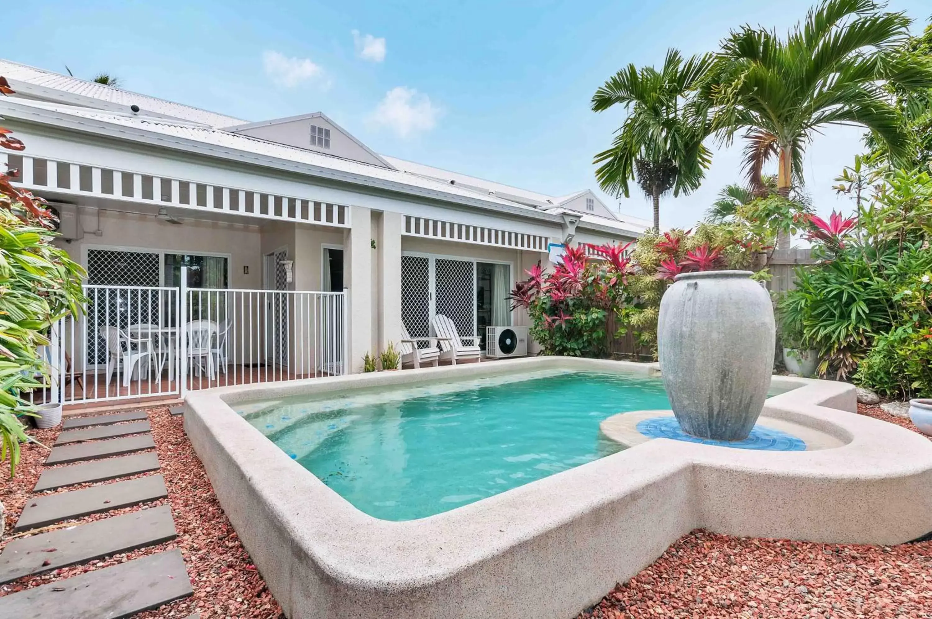
MULTIPOLYGON (((596 189, 593 155, 622 110, 589 111, 596 87, 667 47, 713 50, 741 23, 785 30, 810 2, 463 0, 96 2, 7 7, 0 56, 251 121, 322 111, 379 153, 563 195, 596 189)), ((918 31, 927 0, 893 0, 918 31)), ((805 176, 819 212, 848 209, 832 177, 861 150, 829 128, 805 176)), ((690 226, 740 178, 740 145, 716 149, 703 187, 666 198, 662 225, 690 226)), ((612 208, 618 202, 603 196, 612 208)), ((624 212, 650 217, 632 193, 624 212)))

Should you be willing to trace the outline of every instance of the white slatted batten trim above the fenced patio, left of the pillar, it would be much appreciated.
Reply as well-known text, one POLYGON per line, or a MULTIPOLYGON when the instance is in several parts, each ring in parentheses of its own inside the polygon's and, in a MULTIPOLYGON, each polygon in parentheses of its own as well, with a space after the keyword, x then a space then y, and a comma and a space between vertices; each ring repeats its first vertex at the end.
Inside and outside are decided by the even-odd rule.
POLYGON ((350 227, 348 206, 305 197, 266 194, 240 187, 162 178, 28 155, 0 154, 0 164, 3 163, 20 170, 14 184, 39 195, 48 191, 154 204, 158 207, 220 210, 262 219, 350 227))

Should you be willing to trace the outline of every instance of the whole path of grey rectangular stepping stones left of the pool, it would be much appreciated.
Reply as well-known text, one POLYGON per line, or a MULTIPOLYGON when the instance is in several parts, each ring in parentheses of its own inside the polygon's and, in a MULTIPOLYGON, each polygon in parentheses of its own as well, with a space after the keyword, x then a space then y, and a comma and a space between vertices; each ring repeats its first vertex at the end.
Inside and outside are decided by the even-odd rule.
MULTIPOLYGON (((155 442, 143 410, 67 419, 62 428, 65 431, 46 464, 75 464, 47 468, 34 492, 158 471, 158 454, 144 451, 154 449, 155 442)), ((169 505, 143 507, 86 524, 67 523, 165 496, 165 480, 158 474, 37 494, 13 528, 36 534, 7 543, 0 553, 0 585, 174 539, 177 532, 169 505)), ((181 551, 174 549, 4 596, 0 617, 130 617, 193 593, 181 551)))

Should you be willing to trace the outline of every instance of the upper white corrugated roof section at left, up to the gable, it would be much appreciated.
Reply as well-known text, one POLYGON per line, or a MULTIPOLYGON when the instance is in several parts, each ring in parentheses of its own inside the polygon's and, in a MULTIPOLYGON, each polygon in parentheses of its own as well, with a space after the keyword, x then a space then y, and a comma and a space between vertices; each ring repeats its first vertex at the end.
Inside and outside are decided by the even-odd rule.
POLYGON ((226 114, 208 112, 190 105, 37 69, 19 62, 0 60, 0 75, 6 77, 10 86, 19 90, 21 96, 28 98, 36 97, 127 112, 130 111, 130 105, 136 104, 143 114, 164 115, 211 127, 229 127, 247 122, 226 114), (99 103, 95 104, 95 101, 99 103))

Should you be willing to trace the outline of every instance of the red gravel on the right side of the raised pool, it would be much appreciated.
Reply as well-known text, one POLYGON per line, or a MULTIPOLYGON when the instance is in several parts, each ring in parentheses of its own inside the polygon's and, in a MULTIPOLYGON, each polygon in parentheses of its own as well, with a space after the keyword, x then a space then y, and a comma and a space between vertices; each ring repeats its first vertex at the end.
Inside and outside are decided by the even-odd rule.
MULTIPOLYGON (((879 407, 858 412, 918 432, 879 407)), ((693 531, 577 619, 623 617, 932 617, 932 541, 835 545, 693 531)))

